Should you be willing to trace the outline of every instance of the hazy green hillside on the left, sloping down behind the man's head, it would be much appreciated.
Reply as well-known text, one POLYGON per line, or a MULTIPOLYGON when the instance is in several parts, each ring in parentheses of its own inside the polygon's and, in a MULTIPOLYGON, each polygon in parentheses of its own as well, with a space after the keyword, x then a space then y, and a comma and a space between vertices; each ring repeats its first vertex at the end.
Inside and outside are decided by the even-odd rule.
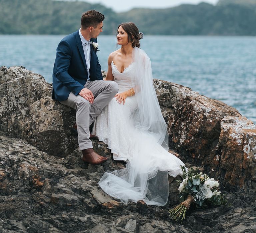
POLYGON ((104 32, 113 34, 119 23, 112 9, 101 4, 51 0, 0 0, 0 34, 69 34, 80 27, 84 11, 106 15, 104 32))

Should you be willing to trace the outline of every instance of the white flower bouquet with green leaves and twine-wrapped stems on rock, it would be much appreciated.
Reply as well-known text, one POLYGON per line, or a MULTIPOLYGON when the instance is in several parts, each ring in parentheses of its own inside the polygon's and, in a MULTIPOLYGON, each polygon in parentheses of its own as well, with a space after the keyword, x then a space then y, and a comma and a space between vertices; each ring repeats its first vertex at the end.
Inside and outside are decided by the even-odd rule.
POLYGON ((169 216, 174 221, 182 221, 186 217, 186 212, 192 203, 197 207, 208 206, 208 204, 222 205, 226 203, 225 197, 217 190, 219 182, 210 178, 202 172, 198 173, 193 168, 188 171, 185 166, 181 166, 183 171, 183 181, 180 182, 180 204, 169 210, 169 216))

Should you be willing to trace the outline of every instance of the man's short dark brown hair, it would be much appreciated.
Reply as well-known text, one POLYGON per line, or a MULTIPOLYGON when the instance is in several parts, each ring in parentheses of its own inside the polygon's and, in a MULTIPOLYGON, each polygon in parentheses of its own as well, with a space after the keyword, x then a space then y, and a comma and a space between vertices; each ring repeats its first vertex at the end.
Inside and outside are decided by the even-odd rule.
POLYGON ((98 11, 90 10, 82 14, 81 28, 86 29, 88 27, 96 27, 105 19, 105 16, 98 11))

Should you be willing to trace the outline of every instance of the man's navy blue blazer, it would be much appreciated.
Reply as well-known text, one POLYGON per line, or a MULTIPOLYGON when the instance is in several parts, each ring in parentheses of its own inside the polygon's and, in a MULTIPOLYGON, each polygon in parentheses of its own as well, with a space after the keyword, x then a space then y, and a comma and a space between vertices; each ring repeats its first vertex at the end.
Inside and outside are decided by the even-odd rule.
MULTIPOLYGON (((97 43, 97 39, 91 38, 97 43)), ((90 80, 102 80, 101 67, 96 51, 90 45, 90 80)), ((76 96, 88 79, 84 50, 79 31, 64 37, 57 47, 52 74, 52 98, 58 101, 68 99, 70 92, 76 96)))

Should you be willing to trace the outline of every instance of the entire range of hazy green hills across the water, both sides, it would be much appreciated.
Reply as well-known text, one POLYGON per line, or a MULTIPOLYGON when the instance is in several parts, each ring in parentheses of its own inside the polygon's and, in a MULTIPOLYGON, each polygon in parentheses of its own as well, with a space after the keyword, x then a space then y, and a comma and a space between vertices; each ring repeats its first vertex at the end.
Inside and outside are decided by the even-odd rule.
POLYGON ((115 34, 117 25, 126 21, 151 35, 256 35, 256 8, 251 7, 255 1, 220 0, 216 6, 184 4, 116 13, 81 1, 0 0, 0 34, 69 34, 80 27, 84 11, 96 9, 105 15, 105 35, 115 34))

